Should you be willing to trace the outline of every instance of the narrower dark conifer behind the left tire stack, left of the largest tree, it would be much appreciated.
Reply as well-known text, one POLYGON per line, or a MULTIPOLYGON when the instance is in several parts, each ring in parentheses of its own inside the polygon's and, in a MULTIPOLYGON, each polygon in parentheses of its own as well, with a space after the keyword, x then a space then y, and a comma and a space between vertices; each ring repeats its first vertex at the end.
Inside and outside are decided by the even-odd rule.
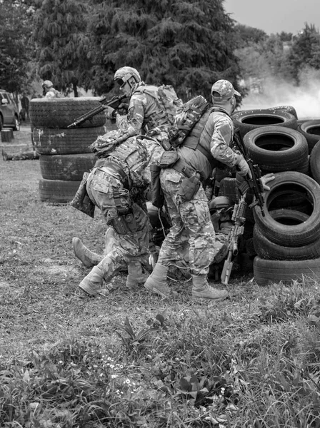
POLYGON ((37 0, 34 42, 38 51, 39 76, 56 88, 78 96, 78 86, 88 89, 89 37, 87 0, 37 0))

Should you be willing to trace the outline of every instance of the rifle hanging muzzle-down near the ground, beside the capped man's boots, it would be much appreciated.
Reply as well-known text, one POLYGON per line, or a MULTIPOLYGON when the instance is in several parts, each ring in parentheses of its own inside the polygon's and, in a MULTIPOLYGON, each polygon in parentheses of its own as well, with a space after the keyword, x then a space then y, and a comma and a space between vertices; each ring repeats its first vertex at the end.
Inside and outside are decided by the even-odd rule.
POLYGON ((221 273, 221 284, 228 285, 229 278, 231 275, 232 265, 234 264, 231 259, 234 255, 238 254, 238 240, 239 236, 244 233, 244 222, 246 218, 244 217, 244 210, 246 209, 246 193, 241 195, 239 203, 234 204, 234 210, 232 213, 231 220, 233 221, 233 226, 231 227, 227 240, 227 256, 224 260, 224 267, 221 273))

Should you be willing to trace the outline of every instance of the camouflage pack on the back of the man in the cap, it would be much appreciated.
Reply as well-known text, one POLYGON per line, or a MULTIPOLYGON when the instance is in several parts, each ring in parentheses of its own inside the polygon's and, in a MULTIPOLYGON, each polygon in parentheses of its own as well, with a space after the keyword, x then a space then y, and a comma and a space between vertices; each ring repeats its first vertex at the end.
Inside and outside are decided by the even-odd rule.
POLYGON ((184 103, 174 119, 174 125, 169 131, 169 143, 173 147, 180 146, 196 123, 209 108, 206 98, 199 95, 184 103))

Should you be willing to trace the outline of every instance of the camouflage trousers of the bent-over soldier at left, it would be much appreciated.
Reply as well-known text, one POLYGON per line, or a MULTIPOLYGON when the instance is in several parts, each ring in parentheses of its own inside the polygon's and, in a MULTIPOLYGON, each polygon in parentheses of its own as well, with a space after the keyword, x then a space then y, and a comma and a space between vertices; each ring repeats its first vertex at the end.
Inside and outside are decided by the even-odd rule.
MULTIPOLYGON (((104 215, 107 225, 116 230, 116 246, 106 257, 114 260, 114 269, 123 261, 149 255, 151 225, 147 213, 132 202, 129 190, 108 168, 95 168, 89 174, 86 191, 104 215)), ((101 262, 103 263, 103 261, 101 262)))

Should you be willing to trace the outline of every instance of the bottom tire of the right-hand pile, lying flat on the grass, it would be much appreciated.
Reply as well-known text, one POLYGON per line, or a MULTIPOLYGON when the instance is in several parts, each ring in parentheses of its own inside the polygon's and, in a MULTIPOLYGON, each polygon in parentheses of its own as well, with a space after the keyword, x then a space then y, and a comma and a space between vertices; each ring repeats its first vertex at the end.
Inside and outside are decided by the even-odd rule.
POLYGON ((311 277, 320 280, 320 259, 311 260, 264 260, 259 256, 254 258, 254 279, 260 286, 290 284, 294 280, 311 277))

